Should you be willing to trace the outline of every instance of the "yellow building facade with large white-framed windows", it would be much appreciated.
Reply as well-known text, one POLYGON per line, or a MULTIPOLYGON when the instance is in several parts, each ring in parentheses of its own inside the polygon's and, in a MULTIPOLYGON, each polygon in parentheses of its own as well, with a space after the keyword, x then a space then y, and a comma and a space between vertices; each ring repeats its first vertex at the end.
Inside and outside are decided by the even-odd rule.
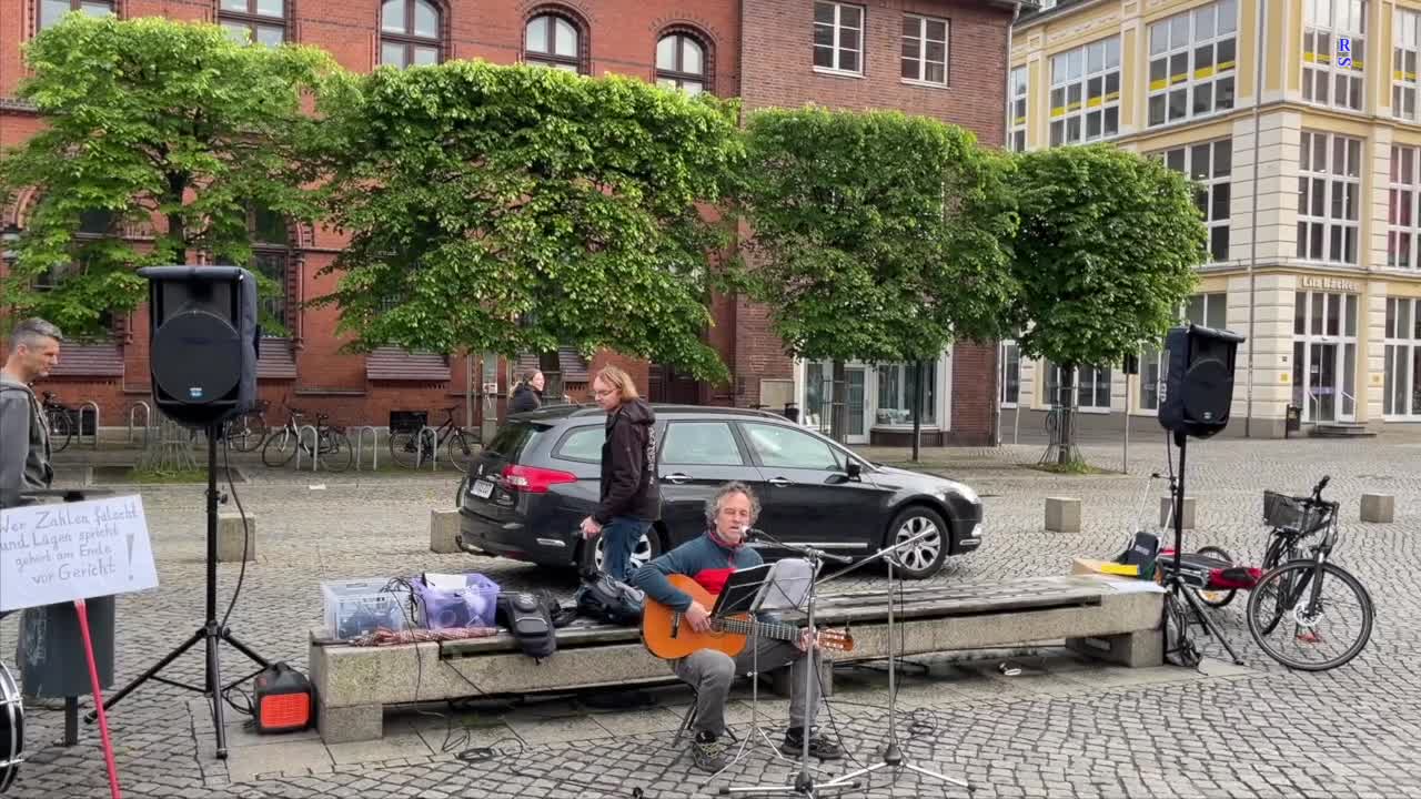
MULTIPOLYGON (((1280 436, 1289 405, 1421 422, 1418 53, 1421 0, 1077 0, 1013 28, 1013 148, 1113 142, 1201 186, 1182 311, 1248 337, 1229 435, 1280 436)), ((1003 350, 1003 407, 1047 408, 1059 370, 1003 350)), ((1158 361, 1080 370, 1079 405, 1154 415, 1158 361)))

